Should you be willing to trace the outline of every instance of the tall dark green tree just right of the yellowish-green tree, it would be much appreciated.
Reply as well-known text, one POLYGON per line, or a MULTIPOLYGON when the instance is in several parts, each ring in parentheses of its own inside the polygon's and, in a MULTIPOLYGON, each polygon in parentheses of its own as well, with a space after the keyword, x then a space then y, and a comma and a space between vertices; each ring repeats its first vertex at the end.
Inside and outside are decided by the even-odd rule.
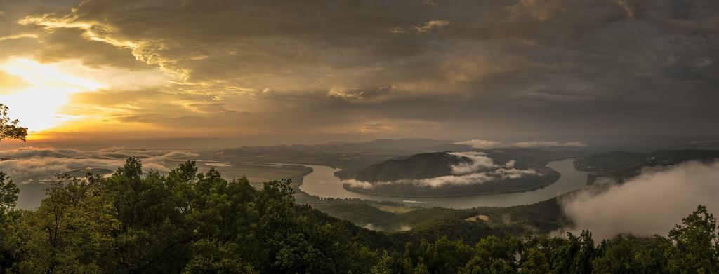
POLYGON ((129 158, 102 184, 120 224, 113 232, 114 260, 119 271, 178 273, 188 260, 193 230, 184 224, 167 178, 142 170, 142 162, 129 158))

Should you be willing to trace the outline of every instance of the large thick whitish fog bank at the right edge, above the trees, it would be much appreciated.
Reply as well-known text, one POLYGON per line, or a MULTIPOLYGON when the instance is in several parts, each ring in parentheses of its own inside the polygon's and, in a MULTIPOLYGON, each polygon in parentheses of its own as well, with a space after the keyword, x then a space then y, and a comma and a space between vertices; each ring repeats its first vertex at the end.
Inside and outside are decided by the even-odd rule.
POLYGON ((620 233, 666 235, 699 204, 719 213, 719 163, 687 162, 647 170, 624 184, 577 192, 560 202, 572 220, 572 232, 588 229, 595 239, 620 233))

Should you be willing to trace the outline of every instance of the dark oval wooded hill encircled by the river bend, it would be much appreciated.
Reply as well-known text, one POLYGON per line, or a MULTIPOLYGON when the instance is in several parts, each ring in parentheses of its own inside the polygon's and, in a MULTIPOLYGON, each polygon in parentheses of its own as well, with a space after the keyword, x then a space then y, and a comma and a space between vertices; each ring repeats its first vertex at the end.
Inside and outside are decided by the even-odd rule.
MULTIPOLYGON (((494 152, 493 154, 498 154, 494 152)), ((389 197, 462 197, 527 192, 561 176, 544 163, 501 159, 484 151, 420 153, 356 171, 343 187, 389 197)))

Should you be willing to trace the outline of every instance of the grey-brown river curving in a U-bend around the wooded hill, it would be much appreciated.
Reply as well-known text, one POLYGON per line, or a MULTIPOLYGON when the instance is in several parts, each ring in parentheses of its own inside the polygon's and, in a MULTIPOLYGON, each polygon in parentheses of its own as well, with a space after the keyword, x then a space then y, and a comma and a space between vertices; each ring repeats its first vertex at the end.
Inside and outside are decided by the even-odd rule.
POLYGON ((490 194, 469 197, 442 197, 442 198, 399 198, 383 197, 367 194, 349 192, 342 188, 342 181, 334 176, 335 171, 329 166, 311 167, 313 172, 305 176, 300 189, 307 194, 317 197, 331 198, 359 198, 375 201, 393 201, 419 207, 446 207, 454 209, 466 209, 472 207, 511 207, 522 204, 533 204, 557 197, 561 194, 571 192, 587 186, 587 172, 574 169, 573 159, 552 161, 547 164, 551 169, 562 174, 554 184, 536 189, 530 192, 514 192, 505 194, 490 194))

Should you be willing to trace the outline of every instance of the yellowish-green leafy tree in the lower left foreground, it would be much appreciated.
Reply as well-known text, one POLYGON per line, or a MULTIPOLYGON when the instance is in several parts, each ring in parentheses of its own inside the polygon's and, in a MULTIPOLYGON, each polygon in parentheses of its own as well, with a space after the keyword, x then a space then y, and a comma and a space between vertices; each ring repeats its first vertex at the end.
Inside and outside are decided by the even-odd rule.
POLYGON ((86 180, 58 176, 35 212, 24 214, 12 239, 20 273, 101 273, 114 263, 111 233, 119 222, 99 188, 86 180))

